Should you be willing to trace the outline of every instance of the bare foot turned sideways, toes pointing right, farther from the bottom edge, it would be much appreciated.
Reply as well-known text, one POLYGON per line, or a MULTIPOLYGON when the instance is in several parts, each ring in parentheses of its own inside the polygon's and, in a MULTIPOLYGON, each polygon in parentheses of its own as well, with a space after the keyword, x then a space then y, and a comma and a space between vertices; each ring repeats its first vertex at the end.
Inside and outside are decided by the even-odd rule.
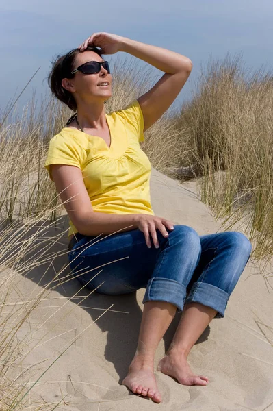
POLYGON ((181 355, 167 354, 159 361, 157 371, 170 375, 170 377, 177 379, 183 385, 206 386, 209 382, 209 379, 203 375, 194 375, 190 365, 187 363, 187 358, 181 355))

